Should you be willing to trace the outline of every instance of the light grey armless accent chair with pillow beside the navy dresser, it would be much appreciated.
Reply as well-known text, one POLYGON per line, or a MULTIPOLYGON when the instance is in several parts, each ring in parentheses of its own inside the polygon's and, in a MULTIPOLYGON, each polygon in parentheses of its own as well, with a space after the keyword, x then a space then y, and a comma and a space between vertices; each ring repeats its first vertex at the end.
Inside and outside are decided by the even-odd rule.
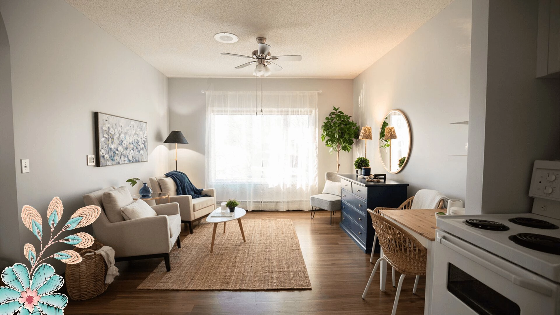
POLYGON ((333 212, 340 210, 340 177, 338 173, 325 173, 325 187, 323 192, 311 196, 311 219, 319 209, 330 212, 330 225, 333 225, 333 212))

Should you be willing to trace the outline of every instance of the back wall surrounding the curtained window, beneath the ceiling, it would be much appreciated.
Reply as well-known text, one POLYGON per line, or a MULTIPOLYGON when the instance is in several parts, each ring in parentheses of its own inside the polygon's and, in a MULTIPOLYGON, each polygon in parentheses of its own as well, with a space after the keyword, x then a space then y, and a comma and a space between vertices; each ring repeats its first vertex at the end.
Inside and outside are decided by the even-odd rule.
MULTIPOLYGON (((169 128, 183 132, 188 145, 179 145, 179 170, 186 173, 195 186, 203 187, 205 154, 206 95, 201 90, 255 91, 256 78, 169 78, 169 128)), ((262 78, 263 91, 319 91, 318 119, 320 126, 333 106, 352 115, 352 80, 262 78)), ((336 172, 337 156, 319 140, 319 190, 323 190, 325 172, 336 172)), ((174 147, 172 147, 174 149, 174 147)), ((174 167, 174 150, 170 151, 170 168, 174 167)), ((351 173, 351 152, 340 152, 340 172, 351 173)))

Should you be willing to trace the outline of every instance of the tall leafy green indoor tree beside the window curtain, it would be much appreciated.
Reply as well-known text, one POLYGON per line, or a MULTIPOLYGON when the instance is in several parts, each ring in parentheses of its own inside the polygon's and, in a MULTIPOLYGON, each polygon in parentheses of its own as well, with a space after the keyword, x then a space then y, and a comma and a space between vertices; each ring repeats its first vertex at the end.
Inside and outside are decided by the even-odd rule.
POLYGON ((333 107, 321 126, 321 141, 330 147, 330 153, 337 152, 337 172, 340 169, 340 151, 350 152, 354 139, 360 136, 360 127, 350 120, 352 116, 344 114, 340 108, 333 107))

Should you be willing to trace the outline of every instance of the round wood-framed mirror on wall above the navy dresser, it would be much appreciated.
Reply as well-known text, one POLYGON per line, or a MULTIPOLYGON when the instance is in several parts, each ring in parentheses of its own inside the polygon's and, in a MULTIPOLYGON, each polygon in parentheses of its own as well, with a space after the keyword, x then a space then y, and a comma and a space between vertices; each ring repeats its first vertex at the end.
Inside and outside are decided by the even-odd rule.
POLYGON ((379 128, 379 155, 389 173, 399 173, 408 162, 412 136, 408 119, 398 109, 390 110, 379 128))

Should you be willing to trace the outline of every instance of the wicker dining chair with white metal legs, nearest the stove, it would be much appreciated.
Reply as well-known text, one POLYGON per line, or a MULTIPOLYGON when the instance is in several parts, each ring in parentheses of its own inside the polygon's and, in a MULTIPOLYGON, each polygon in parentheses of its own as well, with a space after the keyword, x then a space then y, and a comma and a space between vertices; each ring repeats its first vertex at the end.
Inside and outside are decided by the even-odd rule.
POLYGON ((366 289, 363 290, 362 299, 365 299, 367 289, 370 288, 371 281, 374 280, 375 272, 381 261, 386 261, 391 267, 400 272, 399 285, 396 287, 395 303, 393 312, 395 315, 396 307, 399 304, 400 290, 403 287, 405 275, 416 276, 412 293, 416 294, 419 276, 426 275, 427 250, 418 239, 405 231, 400 226, 381 216, 379 212, 367 209, 370 213, 372 225, 379 235, 379 244, 383 250, 382 257, 377 260, 374 270, 371 272, 370 280, 367 281, 366 289))

